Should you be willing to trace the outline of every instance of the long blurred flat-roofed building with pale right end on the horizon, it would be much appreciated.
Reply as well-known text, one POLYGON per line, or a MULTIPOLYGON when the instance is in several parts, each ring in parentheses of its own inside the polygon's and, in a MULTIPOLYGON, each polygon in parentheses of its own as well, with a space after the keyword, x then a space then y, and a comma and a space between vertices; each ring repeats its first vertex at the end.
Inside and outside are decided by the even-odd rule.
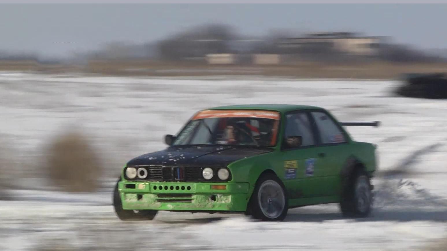
POLYGON ((379 53, 381 37, 358 36, 351 32, 310 33, 299 38, 282 39, 278 47, 290 53, 345 53, 374 56, 379 53))

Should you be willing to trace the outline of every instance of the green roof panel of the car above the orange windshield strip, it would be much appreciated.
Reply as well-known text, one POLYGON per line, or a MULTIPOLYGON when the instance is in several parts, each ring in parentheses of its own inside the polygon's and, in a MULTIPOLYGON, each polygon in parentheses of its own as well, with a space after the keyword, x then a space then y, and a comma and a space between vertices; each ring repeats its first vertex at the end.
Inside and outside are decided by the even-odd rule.
POLYGON ((287 113, 295 110, 303 109, 323 109, 318 106, 311 105, 287 105, 287 104, 253 104, 253 105, 226 105, 212 107, 207 110, 270 110, 280 113, 287 113))

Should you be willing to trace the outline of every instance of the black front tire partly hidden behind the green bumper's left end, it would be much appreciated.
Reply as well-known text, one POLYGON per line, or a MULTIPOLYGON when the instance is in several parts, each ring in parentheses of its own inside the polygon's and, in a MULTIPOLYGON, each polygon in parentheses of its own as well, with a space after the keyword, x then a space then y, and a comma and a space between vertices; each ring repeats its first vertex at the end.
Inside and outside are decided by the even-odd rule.
POLYGON ((113 206, 118 218, 122 221, 152 221, 158 212, 157 210, 134 211, 122 209, 121 197, 118 192, 119 181, 121 181, 121 178, 118 179, 113 193, 113 206))

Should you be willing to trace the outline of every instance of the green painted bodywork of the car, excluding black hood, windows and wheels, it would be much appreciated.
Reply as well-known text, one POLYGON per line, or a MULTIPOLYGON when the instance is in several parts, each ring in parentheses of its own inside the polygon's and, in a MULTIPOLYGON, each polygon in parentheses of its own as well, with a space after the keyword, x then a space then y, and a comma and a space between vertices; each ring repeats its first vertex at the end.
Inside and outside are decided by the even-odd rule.
POLYGON ((373 177, 376 170, 375 145, 354 141, 326 109, 304 105, 231 105, 207 110, 263 110, 280 113, 277 143, 262 153, 226 164, 231 180, 226 182, 173 182, 126 180, 122 169, 118 191, 123 209, 168 211, 245 212, 258 178, 274 173, 283 182, 289 208, 340 202, 344 179, 355 168, 373 177), (286 115, 298 112, 323 112, 344 135, 344 142, 316 144, 284 149, 286 115), (312 164, 311 175, 306 167, 312 164), (287 172, 292 176, 287 176, 287 172), (226 189, 212 189, 226 185, 226 189))

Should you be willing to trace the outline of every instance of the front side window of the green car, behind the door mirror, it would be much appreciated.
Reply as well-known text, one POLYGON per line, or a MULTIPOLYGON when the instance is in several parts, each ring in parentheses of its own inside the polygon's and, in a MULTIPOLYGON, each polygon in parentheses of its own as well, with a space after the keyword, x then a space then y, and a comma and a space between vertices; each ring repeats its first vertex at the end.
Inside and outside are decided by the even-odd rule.
POLYGON ((286 131, 284 137, 290 136, 301 136, 302 144, 301 146, 312 146, 315 145, 312 125, 309 121, 307 113, 293 113, 286 115, 286 131))

